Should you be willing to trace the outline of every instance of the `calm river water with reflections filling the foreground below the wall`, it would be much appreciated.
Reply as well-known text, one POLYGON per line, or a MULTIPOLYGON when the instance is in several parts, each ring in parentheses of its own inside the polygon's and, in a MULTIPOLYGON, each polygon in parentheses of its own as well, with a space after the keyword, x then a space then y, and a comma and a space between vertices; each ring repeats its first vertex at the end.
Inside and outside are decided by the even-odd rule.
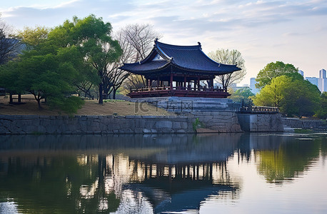
POLYGON ((0 136, 0 213, 327 213, 327 133, 0 136))

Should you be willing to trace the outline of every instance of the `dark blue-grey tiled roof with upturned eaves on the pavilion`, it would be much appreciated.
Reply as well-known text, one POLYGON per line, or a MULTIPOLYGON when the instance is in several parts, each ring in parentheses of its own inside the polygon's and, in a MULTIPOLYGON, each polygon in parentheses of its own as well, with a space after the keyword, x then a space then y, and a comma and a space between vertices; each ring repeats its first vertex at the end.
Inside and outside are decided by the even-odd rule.
POLYGON ((197 46, 175 46, 155 41, 154 49, 143 61, 136 63, 124 63, 121 69, 136 74, 146 74, 156 71, 189 71, 196 73, 211 73, 221 75, 239 71, 236 65, 226 65, 217 63, 206 56, 201 49, 201 44, 197 46), (154 60, 159 54, 161 60, 154 60))

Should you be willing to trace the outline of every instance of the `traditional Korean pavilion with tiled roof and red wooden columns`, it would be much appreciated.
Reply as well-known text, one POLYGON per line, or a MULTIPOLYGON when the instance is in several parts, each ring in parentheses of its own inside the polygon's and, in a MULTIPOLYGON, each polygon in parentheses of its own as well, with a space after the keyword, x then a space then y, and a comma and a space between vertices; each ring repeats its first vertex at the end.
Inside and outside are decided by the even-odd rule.
POLYGON ((236 65, 217 63, 196 46, 175 46, 156 39, 154 49, 143 61, 124 63, 122 70, 143 75, 146 87, 131 89, 131 98, 181 96, 226 98, 226 88, 213 87, 218 75, 239 71, 236 65), (200 84, 205 81, 206 85, 200 84))

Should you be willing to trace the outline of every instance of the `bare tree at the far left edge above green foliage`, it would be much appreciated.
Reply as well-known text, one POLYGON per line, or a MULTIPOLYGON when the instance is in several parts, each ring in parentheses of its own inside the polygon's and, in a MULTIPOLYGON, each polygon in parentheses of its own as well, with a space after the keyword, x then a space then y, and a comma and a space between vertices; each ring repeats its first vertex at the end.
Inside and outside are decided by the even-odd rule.
POLYGON ((0 19, 0 65, 16 58, 24 48, 12 34, 11 26, 0 19))

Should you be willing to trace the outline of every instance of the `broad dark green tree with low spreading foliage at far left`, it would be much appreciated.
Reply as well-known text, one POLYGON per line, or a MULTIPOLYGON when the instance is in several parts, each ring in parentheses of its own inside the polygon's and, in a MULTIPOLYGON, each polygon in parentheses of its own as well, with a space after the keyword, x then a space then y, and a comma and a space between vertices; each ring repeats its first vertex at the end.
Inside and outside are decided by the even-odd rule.
POLYGON ((79 53, 76 46, 59 49, 56 55, 38 51, 26 53, 19 61, 1 67, 0 84, 17 93, 33 94, 39 108, 42 108, 41 99, 46 98, 51 107, 74 113, 83 104, 80 98, 65 96, 74 91, 72 83, 79 75, 74 64, 67 61, 74 52, 79 53))

